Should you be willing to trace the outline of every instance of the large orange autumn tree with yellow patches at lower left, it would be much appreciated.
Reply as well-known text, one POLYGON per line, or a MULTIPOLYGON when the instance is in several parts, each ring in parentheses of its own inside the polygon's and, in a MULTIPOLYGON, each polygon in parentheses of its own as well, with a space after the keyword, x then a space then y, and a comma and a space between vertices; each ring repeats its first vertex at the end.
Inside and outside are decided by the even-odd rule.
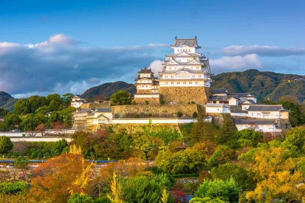
POLYGON ((29 195, 38 201, 67 202, 74 193, 90 194, 92 164, 85 161, 79 148, 48 159, 34 171, 29 195))

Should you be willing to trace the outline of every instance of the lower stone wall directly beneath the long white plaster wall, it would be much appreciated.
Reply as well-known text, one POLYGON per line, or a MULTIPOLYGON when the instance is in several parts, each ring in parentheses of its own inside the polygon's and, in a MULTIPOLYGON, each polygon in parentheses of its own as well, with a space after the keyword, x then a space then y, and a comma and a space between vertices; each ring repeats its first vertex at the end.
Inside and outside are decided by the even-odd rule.
MULTIPOLYGON (((134 123, 125 123, 125 124, 99 124, 98 129, 108 130, 109 127, 112 128, 114 132, 117 132, 121 129, 126 129, 128 133, 135 133, 137 131, 144 131, 146 127, 149 127, 148 124, 134 124, 134 123)), ((180 129, 177 123, 158 123, 150 124, 150 130, 158 132, 162 128, 176 129, 179 133, 180 129)))

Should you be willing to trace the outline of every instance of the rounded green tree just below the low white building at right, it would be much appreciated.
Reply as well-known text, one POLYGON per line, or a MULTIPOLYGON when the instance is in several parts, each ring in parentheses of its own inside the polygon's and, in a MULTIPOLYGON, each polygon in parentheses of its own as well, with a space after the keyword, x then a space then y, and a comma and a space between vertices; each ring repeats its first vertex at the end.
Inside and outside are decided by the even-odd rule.
POLYGON ((241 147, 257 147, 257 144, 263 139, 263 134, 253 129, 236 131, 235 136, 241 147))

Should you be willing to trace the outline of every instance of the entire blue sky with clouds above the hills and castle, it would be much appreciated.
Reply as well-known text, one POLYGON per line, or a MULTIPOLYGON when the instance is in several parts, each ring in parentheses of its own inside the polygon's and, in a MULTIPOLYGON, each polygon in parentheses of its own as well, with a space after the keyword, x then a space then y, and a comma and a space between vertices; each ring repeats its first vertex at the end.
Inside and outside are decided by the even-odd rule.
POLYGON ((133 82, 141 67, 160 69, 175 36, 197 36, 215 74, 305 75, 303 8, 304 1, 0 0, 0 91, 23 97, 133 82))

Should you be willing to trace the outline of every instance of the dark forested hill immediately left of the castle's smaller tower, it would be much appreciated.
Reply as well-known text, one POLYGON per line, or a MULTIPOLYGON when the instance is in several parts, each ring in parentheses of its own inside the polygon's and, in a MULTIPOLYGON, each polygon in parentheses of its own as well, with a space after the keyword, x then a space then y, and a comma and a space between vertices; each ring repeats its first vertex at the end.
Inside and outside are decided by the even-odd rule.
POLYGON ((137 91, 136 86, 134 84, 118 81, 118 82, 104 83, 102 85, 92 87, 86 90, 81 95, 81 97, 100 99, 103 97, 110 97, 113 93, 117 92, 118 90, 125 90, 127 92, 130 92, 132 95, 137 91))

